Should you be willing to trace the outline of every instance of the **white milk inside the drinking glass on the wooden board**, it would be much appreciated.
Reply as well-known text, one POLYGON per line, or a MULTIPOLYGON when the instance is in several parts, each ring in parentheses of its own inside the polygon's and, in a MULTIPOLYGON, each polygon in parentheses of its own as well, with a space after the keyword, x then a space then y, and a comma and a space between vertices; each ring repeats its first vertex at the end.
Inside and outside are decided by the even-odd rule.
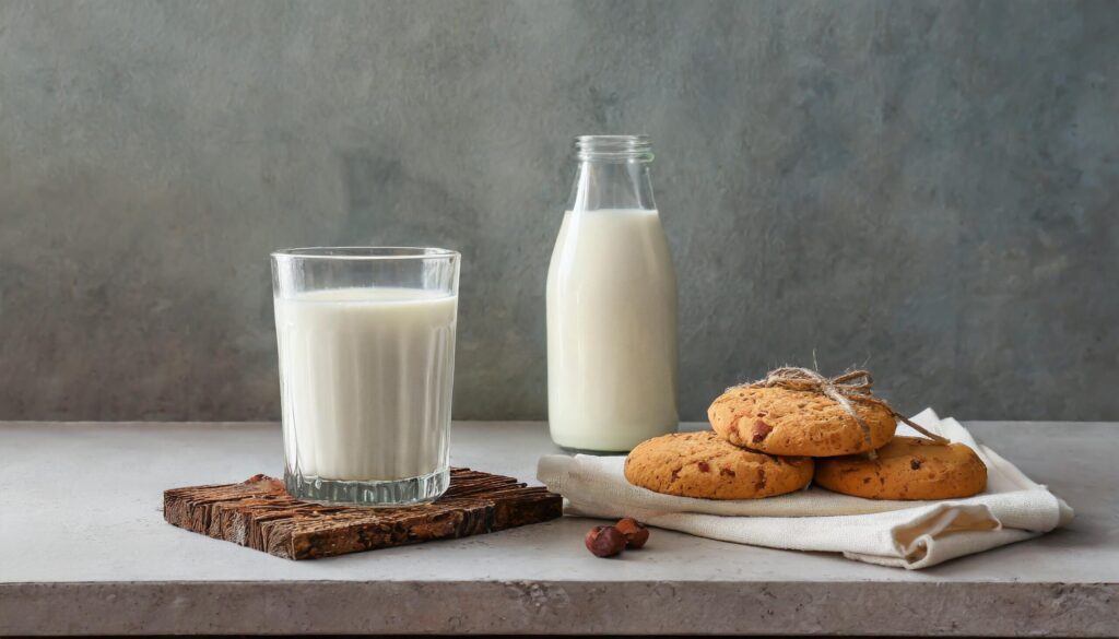
POLYGON ((386 481, 446 468, 457 303, 403 288, 275 300, 290 472, 386 481))

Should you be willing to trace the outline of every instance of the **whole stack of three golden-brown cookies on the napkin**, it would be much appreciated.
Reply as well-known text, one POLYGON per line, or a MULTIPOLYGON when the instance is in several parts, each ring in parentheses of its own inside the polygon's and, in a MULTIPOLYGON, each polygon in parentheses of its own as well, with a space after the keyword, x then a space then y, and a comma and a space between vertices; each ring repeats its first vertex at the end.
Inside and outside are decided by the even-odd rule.
POLYGON ((797 387, 731 388, 707 411, 712 431, 642 442, 626 459, 626 478, 656 492, 706 499, 773 497, 814 478, 828 490, 868 499, 949 499, 986 487, 987 468, 970 448, 894 436, 894 414, 884 403, 831 396, 797 387))

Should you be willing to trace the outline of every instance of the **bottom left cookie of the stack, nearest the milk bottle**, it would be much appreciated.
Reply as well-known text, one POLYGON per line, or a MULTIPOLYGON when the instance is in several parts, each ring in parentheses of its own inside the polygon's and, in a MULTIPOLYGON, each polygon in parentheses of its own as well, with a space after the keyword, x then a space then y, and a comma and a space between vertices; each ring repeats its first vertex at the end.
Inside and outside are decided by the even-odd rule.
POLYGON ((812 460, 743 450, 711 431, 674 433, 638 444, 626 458, 626 479, 665 495, 759 499, 808 486, 812 460))

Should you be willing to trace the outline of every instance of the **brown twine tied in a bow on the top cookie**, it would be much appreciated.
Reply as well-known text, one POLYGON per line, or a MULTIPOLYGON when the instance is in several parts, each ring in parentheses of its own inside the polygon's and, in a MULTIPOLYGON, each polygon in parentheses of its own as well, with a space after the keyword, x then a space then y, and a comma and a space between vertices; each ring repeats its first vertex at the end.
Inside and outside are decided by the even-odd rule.
MULTIPOLYGON (((837 375, 835 377, 825 377, 812 370, 811 368, 800 368, 796 366, 783 366, 781 368, 774 368, 770 370, 763 379, 758 382, 752 382, 750 384, 742 384, 737 386, 739 388, 786 388, 788 391, 805 391, 808 393, 819 393, 825 397, 828 397, 836 404, 847 412, 848 415, 855 419, 855 423, 858 424, 859 430, 863 431, 863 439, 866 441, 867 445, 872 445, 871 442, 871 427, 866 425, 863 417, 858 415, 853 403, 869 404, 874 406, 882 406, 890 414, 897 420, 901 420, 911 429, 925 435, 937 443, 946 444, 948 440, 944 438, 931 433, 928 430, 921 427, 920 425, 913 423, 908 417, 899 413, 885 402, 875 397, 872 394, 872 388, 874 386, 874 377, 871 376, 868 370, 849 370, 843 375, 837 375)), ((874 450, 868 453, 871 459, 875 459, 877 455, 874 450)))

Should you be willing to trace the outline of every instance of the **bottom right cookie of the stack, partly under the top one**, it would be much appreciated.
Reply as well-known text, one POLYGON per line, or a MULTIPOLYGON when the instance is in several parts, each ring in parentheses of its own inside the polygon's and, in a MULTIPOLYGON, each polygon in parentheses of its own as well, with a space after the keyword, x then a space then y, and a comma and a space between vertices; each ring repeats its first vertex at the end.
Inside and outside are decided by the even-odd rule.
POLYGON ((816 460, 816 485, 867 499, 955 499, 982 492, 987 467, 965 444, 896 436, 875 460, 816 460))

